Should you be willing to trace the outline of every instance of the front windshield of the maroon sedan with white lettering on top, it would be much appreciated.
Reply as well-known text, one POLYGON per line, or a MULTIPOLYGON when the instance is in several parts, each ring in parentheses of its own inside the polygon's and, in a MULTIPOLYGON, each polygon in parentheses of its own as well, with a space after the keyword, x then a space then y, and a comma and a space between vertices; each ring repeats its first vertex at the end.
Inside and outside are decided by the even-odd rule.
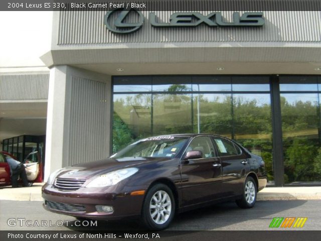
POLYGON ((188 137, 173 137, 161 136, 151 137, 139 140, 118 153, 115 153, 111 158, 118 161, 129 161, 132 158, 143 157, 175 157, 184 147, 188 137))

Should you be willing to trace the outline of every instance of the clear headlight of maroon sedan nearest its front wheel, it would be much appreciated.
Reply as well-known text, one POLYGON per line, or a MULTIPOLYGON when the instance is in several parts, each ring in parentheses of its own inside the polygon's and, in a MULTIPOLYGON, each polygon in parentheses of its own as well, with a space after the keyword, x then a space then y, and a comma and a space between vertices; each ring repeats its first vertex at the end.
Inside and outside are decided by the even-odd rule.
POLYGON ((86 187, 107 187, 112 186, 120 182, 121 180, 130 177, 131 175, 138 172, 138 168, 126 168, 117 170, 114 172, 109 172, 104 175, 100 175, 99 177, 92 180, 90 183, 87 184, 86 187))

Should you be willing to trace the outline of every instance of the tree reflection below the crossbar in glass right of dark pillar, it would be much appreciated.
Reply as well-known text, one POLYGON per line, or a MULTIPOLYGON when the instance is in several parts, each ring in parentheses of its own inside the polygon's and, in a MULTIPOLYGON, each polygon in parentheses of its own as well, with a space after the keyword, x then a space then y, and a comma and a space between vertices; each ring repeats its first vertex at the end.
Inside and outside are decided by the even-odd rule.
POLYGON ((318 96, 281 94, 285 183, 319 180, 318 96))

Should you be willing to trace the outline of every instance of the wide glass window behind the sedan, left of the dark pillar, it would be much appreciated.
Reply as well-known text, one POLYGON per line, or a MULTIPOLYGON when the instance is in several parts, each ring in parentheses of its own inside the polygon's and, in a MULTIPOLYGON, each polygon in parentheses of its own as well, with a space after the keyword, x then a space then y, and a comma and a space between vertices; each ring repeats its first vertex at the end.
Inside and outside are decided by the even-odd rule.
POLYGON ((266 76, 113 78, 114 153, 150 136, 213 133, 261 155, 272 181, 271 123, 266 76))

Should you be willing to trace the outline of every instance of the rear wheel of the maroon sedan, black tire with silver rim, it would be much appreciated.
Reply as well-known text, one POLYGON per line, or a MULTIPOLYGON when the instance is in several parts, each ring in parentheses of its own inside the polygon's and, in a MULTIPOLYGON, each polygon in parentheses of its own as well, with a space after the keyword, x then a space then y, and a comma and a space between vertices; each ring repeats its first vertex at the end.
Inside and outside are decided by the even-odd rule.
POLYGON ((256 202, 256 183, 252 177, 247 177, 243 185, 242 198, 237 199, 236 204, 241 208, 254 207, 256 202))

